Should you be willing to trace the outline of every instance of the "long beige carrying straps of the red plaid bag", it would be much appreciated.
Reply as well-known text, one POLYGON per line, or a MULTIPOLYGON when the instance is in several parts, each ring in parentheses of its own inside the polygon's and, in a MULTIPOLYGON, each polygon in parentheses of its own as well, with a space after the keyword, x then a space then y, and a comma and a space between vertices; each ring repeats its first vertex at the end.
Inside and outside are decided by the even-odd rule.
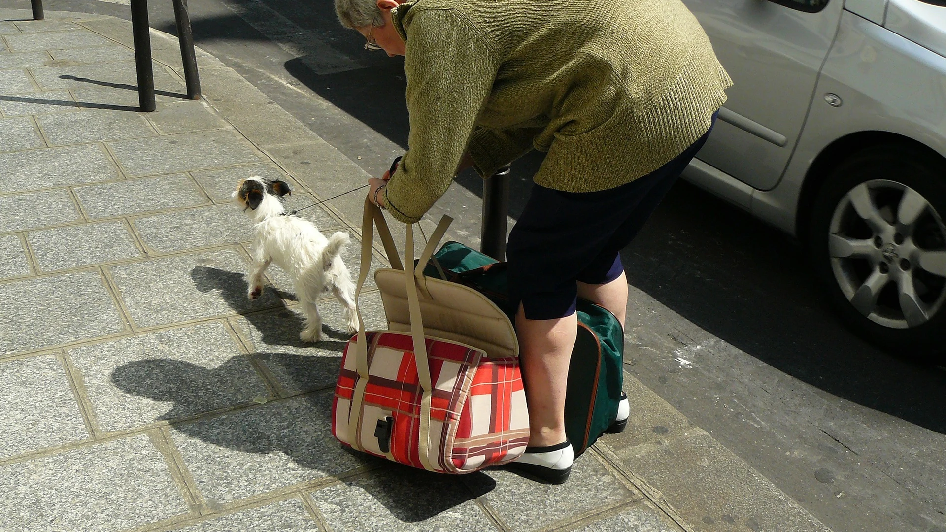
MULTIPOLYGON (((424 335, 424 323, 422 321, 420 302, 417 296, 417 285, 419 283, 423 287, 422 290, 425 292, 427 291, 427 282, 424 277, 424 265, 427 264, 427 261, 433 255, 433 250, 436 248, 437 243, 444 237, 444 234, 447 233, 447 227, 449 227, 450 222, 453 222, 453 219, 448 216, 444 216, 441 219, 440 223, 437 224, 437 228, 430 236, 429 242, 424 248, 424 252, 421 254, 421 260, 418 262, 417 266, 413 268, 413 275, 408 275, 406 271, 404 272, 404 280, 408 294, 408 305, 411 313, 411 336, 414 347, 414 365, 417 366, 417 381, 424 390, 423 394, 421 395, 420 404, 420 449, 418 454, 424 469, 431 471, 434 470, 429 462, 430 399, 432 397, 433 383, 430 381, 430 365, 427 356, 427 340, 425 339, 424 335)), ((368 276, 368 270, 371 267, 374 224, 377 224, 378 235, 381 237, 381 242, 384 245, 385 251, 388 253, 388 259, 391 261, 392 266, 395 270, 404 270, 404 267, 397 263, 399 262, 397 257, 397 249, 394 246, 394 239, 391 237, 391 231, 388 228, 388 223, 384 220, 384 214, 381 213, 381 210, 375 204, 372 204, 367 198, 365 198, 364 213, 361 218, 361 264, 359 269, 358 288, 355 291, 355 312, 358 315, 359 323, 358 342, 356 343, 355 349, 358 380, 355 383, 355 392, 352 396, 351 410, 348 414, 349 430, 352 428, 355 429, 354 437, 351 438, 351 445, 352 448, 358 451, 363 451, 360 445, 359 437, 361 433, 361 402, 364 398, 365 387, 368 385, 368 340, 367 335, 365 334, 364 319, 361 317, 361 310, 359 310, 358 301, 361 288, 364 286, 364 281, 368 276)), ((412 264, 413 248, 413 224, 409 223, 407 225, 407 241, 404 250, 404 264, 412 264)))

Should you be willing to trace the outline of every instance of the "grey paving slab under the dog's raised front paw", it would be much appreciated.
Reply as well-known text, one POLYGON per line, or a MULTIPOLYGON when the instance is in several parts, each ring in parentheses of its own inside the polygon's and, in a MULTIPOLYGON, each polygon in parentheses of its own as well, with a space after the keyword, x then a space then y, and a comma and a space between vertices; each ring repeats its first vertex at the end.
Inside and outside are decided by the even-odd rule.
POLYGON ((109 267, 141 327, 281 307, 273 293, 247 298, 246 268, 243 257, 229 249, 109 267))

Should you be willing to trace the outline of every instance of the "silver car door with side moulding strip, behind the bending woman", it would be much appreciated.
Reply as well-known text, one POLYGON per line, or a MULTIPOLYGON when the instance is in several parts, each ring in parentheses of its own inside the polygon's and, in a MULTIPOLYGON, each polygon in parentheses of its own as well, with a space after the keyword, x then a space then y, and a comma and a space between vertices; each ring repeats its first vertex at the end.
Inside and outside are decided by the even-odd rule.
POLYGON ((697 158, 768 190, 795 148, 843 1, 683 1, 734 82, 697 158))

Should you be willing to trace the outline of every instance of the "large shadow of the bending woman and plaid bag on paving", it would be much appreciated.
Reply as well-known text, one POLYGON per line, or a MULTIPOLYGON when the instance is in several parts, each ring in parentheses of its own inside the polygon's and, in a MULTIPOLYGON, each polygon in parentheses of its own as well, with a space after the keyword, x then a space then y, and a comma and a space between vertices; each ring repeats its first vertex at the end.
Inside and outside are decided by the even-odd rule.
MULTIPOLYGON (((335 357, 285 352, 259 355, 295 359, 290 361, 293 367, 305 367, 313 375, 335 375, 339 369, 339 359, 335 357)), ((214 368, 174 359, 149 359, 115 368, 112 382, 126 393, 171 403, 160 419, 175 420, 206 410, 208 395, 232 392, 231 382, 245 375, 246 369, 245 356, 231 357, 214 368)), ((327 393, 261 405, 223 417, 174 424, 176 432, 223 449, 282 453, 307 470, 338 474, 342 469, 373 468, 367 474, 346 479, 345 484, 363 490, 402 522, 425 521, 496 487, 496 482, 484 473, 458 478, 412 470, 381 458, 343 450, 331 436, 330 427, 331 395, 327 393)), ((344 497, 350 498, 351 494, 344 497)), ((358 508, 347 509, 358 511, 358 508)))

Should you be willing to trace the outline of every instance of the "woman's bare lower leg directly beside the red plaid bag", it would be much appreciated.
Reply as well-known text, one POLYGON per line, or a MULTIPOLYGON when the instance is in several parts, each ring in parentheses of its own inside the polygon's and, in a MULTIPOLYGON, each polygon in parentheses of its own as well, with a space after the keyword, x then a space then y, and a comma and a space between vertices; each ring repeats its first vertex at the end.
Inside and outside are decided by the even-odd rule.
POLYGON ((578 334, 578 316, 530 320, 522 306, 516 315, 519 360, 529 405, 529 446, 565 441, 565 392, 569 360, 578 334))

